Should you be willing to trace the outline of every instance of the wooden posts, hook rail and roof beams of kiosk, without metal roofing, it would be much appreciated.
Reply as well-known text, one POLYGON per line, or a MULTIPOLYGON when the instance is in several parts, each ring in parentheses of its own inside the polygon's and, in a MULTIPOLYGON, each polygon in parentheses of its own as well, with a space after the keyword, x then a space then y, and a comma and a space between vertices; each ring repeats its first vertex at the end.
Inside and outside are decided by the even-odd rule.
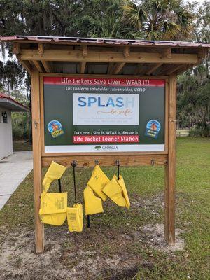
MULTIPOLYGON (((27 43, 27 41, 26 41, 27 43)), ((36 43, 36 41, 34 42, 36 43)), ((55 43, 56 44, 56 43, 55 43)), ((77 45, 64 46, 53 45, 57 49, 43 48, 38 44, 37 50, 25 48, 24 43, 15 45, 14 51, 18 59, 31 74, 32 96, 32 125, 33 125, 33 151, 34 151, 34 209, 35 209, 35 237, 36 253, 44 249, 44 227, 41 223, 38 210, 41 195, 41 167, 48 167, 52 160, 62 165, 70 166, 73 160, 77 160, 80 167, 93 167, 95 160, 99 165, 142 166, 161 165, 165 166, 165 239, 169 245, 175 242, 175 175, 176 175, 176 74, 183 69, 195 66, 200 62, 198 53, 176 53, 171 48, 147 48, 151 52, 138 51, 138 48, 124 46, 120 51, 116 48, 110 51, 106 46, 96 49, 90 45, 80 43, 77 45), (23 48, 22 48, 23 47, 23 48), (58 50, 60 48, 60 50, 58 50), (153 52, 155 50, 155 52, 153 52), (75 73, 51 73, 55 69, 54 62, 76 62, 79 64, 78 72, 75 73), (102 62, 108 64, 107 75, 94 75, 95 78, 142 78, 165 80, 165 151, 161 152, 118 152, 118 153, 45 153, 44 150, 44 118, 43 118, 43 77, 92 77, 87 75, 85 69, 88 62, 102 62), (137 64, 135 73, 144 73, 146 76, 118 75, 125 64, 137 64), (144 71, 139 71, 140 65, 147 65, 144 71), (163 71, 164 70, 164 71, 163 71), (43 73, 46 71, 47 73, 43 73), (152 76, 154 73, 160 75, 152 76), (161 76, 164 73, 167 76, 161 76)), ((179 48, 179 47, 178 47, 179 48)), ((87 65, 88 66, 88 65, 87 65)), ((140 67, 141 68, 141 67, 140 67)), ((144 67, 143 67, 144 68, 144 67)), ((56 69, 55 69, 56 71, 56 69)))

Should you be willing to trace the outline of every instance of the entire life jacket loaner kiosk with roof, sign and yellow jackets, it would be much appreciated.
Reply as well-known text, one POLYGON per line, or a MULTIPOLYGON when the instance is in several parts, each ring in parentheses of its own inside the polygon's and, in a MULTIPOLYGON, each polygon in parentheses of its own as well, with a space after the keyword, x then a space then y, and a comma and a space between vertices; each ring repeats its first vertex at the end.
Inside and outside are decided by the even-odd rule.
POLYGON ((36 253, 44 250, 44 223, 67 219, 69 231, 80 232, 83 211, 90 227, 90 215, 104 211, 107 197, 130 207, 123 176, 109 179, 102 170, 116 165, 165 166, 165 239, 174 244, 176 76, 199 64, 210 45, 45 36, 1 42, 13 44, 31 75, 36 253), (66 167, 74 178, 70 207, 61 185, 66 167), (84 207, 76 167, 94 167, 84 207), (59 192, 48 193, 55 180, 59 192))

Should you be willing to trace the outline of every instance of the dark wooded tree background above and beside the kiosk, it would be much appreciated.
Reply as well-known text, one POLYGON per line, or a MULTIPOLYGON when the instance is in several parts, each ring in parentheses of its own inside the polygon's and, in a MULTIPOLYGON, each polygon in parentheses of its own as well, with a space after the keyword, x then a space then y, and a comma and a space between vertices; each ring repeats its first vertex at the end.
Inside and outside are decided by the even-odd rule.
MULTIPOLYGON (((0 0, 0 35, 78 36, 210 43, 210 2, 0 0)), ((1 44, 0 90, 31 106, 30 78, 1 44)), ((209 57, 178 77, 177 128, 210 136, 209 57)), ((13 113, 13 138, 31 140, 31 116, 13 113)))

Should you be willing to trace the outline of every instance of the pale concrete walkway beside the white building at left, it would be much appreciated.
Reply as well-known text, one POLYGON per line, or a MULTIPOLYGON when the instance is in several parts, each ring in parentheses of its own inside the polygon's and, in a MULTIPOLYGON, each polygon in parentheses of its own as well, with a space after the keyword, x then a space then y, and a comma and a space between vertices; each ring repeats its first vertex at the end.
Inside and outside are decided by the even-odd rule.
POLYGON ((33 168, 32 152, 15 152, 0 160, 0 210, 33 168))

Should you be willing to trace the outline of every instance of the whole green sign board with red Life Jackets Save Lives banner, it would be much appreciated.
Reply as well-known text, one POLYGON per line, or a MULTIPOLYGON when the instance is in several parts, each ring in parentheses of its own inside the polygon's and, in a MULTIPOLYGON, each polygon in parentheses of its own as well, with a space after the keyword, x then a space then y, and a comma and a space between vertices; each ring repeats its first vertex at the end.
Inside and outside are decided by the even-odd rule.
POLYGON ((45 153, 165 151, 165 80, 43 77, 45 153))

